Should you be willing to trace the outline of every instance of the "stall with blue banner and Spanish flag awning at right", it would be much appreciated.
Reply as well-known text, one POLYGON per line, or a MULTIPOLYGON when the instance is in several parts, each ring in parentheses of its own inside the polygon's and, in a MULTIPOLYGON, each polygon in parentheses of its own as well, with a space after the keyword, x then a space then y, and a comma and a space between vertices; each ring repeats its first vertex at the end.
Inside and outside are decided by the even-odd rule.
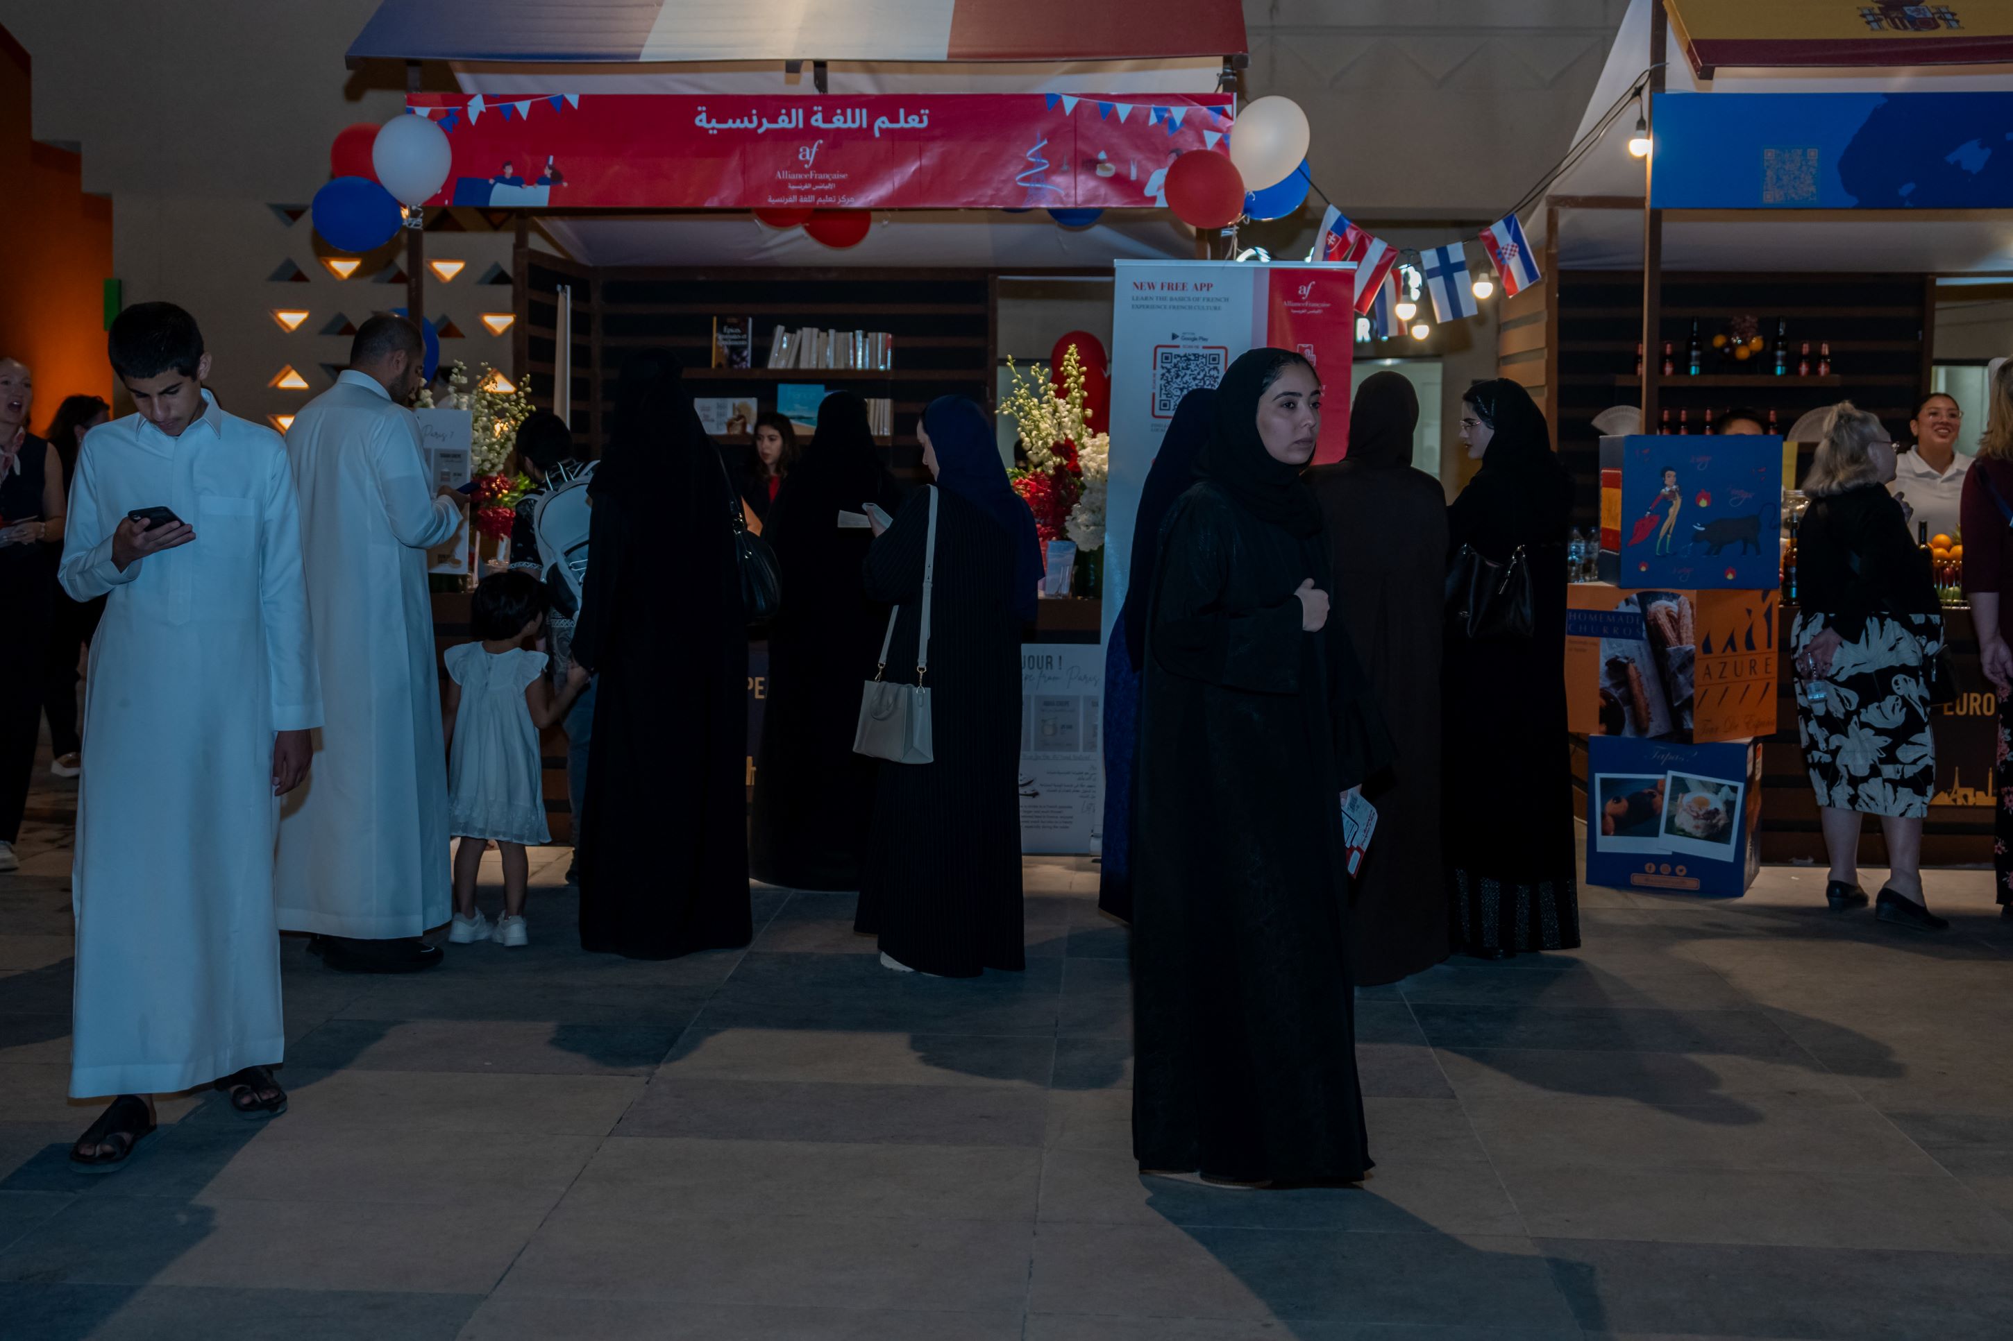
MULTIPOLYGON (((1908 442, 1916 402, 1939 386, 1939 277, 2013 273, 2013 72, 1989 64, 2013 58, 2013 22, 1818 8, 1633 0, 1578 145, 1534 211, 1546 281, 1506 302, 1500 368, 1544 404, 1588 531, 1616 521, 1602 513, 1596 416, 1631 406, 1641 432, 1691 434, 1705 450, 1727 410, 1788 434, 1852 400, 1908 442)), ((1965 424, 1965 446, 1979 430, 1965 424)), ((1814 442, 1792 446, 1786 487, 1814 442)), ((1794 613, 1784 589, 1779 635, 1794 613)), ((1969 609, 1945 613, 1961 694, 1934 724, 1922 854, 1989 863, 1997 702, 1969 609)), ((1775 678, 1759 852, 1824 860, 1784 659, 1775 678)), ((1874 826, 1862 846, 1882 858, 1874 826)))

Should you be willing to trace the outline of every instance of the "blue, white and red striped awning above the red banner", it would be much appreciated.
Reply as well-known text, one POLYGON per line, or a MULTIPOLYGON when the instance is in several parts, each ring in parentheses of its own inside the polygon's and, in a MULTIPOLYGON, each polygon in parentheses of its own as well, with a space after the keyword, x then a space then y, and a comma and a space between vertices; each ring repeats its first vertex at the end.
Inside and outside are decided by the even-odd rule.
POLYGON ((1153 60, 1246 50, 1240 0, 382 0, 348 60, 1153 60))

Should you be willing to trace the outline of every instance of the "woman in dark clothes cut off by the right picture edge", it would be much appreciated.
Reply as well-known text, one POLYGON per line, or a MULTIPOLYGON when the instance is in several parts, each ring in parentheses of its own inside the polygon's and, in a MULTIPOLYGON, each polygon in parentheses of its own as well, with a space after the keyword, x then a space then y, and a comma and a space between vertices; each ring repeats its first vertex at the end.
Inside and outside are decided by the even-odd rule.
MULTIPOLYGON (((2001 362, 1991 376, 1991 410, 1985 416, 1985 436, 1979 438, 1979 458, 1965 474, 1965 595, 1971 597, 1971 623, 1979 631, 1979 661, 1985 678, 1999 690, 1999 762, 1993 766, 1993 788, 1999 796, 2013 788, 2013 603, 1999 593, 2013 589, 2013 362, 2001 362)), ((1993 810, 1999 842, 1995 891, 1999 915, 2013 917, 2013 812, 1993 810)))

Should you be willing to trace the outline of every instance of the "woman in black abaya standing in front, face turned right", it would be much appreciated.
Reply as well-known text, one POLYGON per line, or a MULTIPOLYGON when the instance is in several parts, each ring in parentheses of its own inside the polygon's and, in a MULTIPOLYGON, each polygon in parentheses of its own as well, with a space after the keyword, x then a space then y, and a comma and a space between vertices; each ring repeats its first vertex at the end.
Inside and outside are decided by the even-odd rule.
POLYGON ((1321 382, 1252 350, 1168 515, 1133 774, 1133 1154, 1210 1182, 1355 1182, 1341 802, 1391 750, 1300 478, 1321 382))

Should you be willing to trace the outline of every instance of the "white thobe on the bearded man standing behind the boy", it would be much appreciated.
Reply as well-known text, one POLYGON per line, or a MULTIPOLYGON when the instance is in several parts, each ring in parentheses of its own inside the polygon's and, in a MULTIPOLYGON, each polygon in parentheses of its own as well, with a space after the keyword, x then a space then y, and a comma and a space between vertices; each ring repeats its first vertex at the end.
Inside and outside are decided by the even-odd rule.
POLYGON ((384 941, 449 919, 447 760, 427 549, 437 497, 419 420, 360 372, 286 430, 326 728, 280 820, 280 927, 384 941))

